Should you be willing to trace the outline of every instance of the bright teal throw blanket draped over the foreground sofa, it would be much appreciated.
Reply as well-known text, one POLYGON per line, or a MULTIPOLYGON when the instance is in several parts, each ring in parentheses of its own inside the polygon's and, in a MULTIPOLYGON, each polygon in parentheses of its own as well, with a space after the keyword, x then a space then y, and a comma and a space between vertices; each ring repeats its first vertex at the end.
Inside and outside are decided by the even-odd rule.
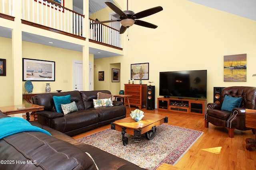
POLYGON ((48 131, 32 126, 28 121, 20 117, 5 117, 0 119, 0 129, 0 139, 25 131, 38 131, 52 136, 48 131))

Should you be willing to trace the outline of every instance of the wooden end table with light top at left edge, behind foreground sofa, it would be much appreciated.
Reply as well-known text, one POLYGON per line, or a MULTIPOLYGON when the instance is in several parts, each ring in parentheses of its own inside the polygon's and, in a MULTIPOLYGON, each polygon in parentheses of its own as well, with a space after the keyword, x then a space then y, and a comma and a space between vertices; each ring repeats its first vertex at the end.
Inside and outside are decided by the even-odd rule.
POLYGON ((0 110, 5 115, 13 115, 18 113, 25 113, 26 112, 26 120, 30 120, 29 112, 34 112, 34 121, 37 121, 37 113, 36 111, 44 110, 44 106, 39 106, 36 104, 20 104, 20 105, 12 105, 12 106, 4 106, 0 107, 0 110))

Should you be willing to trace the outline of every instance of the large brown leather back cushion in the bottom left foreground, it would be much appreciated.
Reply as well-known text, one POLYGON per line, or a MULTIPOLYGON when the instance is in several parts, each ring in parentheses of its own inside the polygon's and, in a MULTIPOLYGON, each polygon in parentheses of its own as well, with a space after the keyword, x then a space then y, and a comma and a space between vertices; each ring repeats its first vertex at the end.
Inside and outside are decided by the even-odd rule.
POLYGON ((76 146, 40 132, 22 132, 1 139, 0 153, 3 160, 26 162, 1 164, 0 169, 97 169, 90 156, 76 146))

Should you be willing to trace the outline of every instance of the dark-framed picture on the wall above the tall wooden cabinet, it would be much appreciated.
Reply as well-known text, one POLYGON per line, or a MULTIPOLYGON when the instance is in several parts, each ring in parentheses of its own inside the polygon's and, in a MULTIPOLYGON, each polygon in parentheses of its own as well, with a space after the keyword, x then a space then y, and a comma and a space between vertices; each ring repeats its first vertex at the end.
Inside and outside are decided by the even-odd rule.
POLYGON ((131 64, 131 80, 148 80, 149 63, 131 64))

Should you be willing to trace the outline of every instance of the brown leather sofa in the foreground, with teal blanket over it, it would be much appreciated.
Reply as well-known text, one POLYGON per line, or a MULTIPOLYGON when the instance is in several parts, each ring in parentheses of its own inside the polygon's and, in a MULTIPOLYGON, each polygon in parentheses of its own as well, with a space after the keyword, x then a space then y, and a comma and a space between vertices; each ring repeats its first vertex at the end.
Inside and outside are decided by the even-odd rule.
MULTIPOLYGON (((9 116, 0 111, 0 119, 4 117, 9 116)), ((143 170, 36 121, 30 123, 52 136, 26 131, 0 139, 1 170, 143 170)))

